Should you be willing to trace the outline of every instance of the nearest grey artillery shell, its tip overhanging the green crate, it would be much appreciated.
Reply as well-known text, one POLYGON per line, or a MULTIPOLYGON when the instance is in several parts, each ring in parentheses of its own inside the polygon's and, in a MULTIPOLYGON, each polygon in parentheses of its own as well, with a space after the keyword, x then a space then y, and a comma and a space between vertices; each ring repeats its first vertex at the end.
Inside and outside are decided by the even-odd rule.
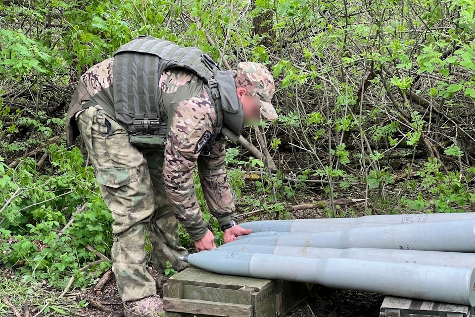
POLYGON ((234 251, 200 252, 185 256, 183 260, 221 274, 315 283, 332 288, 475 305, 474 268, 234 251))

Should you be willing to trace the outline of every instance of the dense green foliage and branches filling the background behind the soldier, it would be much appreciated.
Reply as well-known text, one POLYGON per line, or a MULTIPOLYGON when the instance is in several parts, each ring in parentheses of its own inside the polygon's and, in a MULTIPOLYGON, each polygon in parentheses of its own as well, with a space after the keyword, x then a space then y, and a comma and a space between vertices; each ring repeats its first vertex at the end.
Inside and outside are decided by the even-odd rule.
MULTIPOLYGON (((0 5, 1 264, 18 271, 24 283, 45 280, 55 288, 63 288, 70 276, 73 286, 88 286, 110 267, 102 263, 91 272, 80 271, 96 260, 88 244, 110 255, 112 218, 85 153, 75 146, 66 149, 63 139, 54 138, 64 129, 64 111, 79 74, 139 34, 198 46, 218 61, 223 55, 233 67, 242 60, 262 62, 273 72, 279 117, 262 126, 279 170, 271 173, 262 160, 234 145, 227 148, 238 213, 260 210, 289 218, 287 205, 330 195, 368 198, 365 206, 380 212, 473 207, 475 169, 467 164, 474 137, 472 1, 249 3, 35 0, 28 6, 0 5), (443 162, 425 156, 409 161, 411 154, 427 151, 425 140, 433 141, 443 162), (45 154, 47 160, 39 164, 45 154), (391 156, 402 157, 402 169, 416 171, 415 178, 395 181, 391 156), (19 164, 8 167, 16 159, 19 164), (251 174, 257 177, 245 181, 251 174), (400 198, 394 194, 399 190, 400 198), (72 226, 61 232, 85 203, 72 226)), ((208 211, 197 174, 193 177, 203 217, 220 245, 219 223, 208 211)), ((323 212, 369 212, 359 208, 323 212)), ((179 228, 182 245, 192 248, 190 236, 179 228)), ((167 270, 167 275, 175 273, 170 266, 167 270)), ((50 312, 59 312, 55 308, 62 310, 51 306, 50 312)))

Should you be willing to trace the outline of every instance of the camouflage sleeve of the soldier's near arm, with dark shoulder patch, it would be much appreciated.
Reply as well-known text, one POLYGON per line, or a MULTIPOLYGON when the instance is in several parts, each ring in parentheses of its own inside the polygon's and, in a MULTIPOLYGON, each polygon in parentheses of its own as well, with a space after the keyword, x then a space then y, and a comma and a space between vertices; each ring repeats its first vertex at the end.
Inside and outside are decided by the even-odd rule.
POLYGON ((213 132, 213 117, 206 91, 180 102, 165 145, 165 192, 177 219, 193 240, 201 239, 207 232, 193 186, 193 170, 199 156, 198 144, 213 132))

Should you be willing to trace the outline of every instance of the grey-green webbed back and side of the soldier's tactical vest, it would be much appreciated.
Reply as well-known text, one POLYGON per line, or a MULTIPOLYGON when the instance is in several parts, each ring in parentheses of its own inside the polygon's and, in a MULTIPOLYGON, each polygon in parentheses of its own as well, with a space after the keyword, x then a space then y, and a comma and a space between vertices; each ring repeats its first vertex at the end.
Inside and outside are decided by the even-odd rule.
POLYGON ((166 105, 159 103, 158 92, 161 88, 158 80, 164 70, 175 67, 193 72, 208 86, 220 70, 211 57, 198 48, 182 48, 154 37, 139 36, 114 54, 116 118, 125 123, 130 132, 137 132, 134 119, 157 115, 159 120, 163 120, 163 106, 166 105))

